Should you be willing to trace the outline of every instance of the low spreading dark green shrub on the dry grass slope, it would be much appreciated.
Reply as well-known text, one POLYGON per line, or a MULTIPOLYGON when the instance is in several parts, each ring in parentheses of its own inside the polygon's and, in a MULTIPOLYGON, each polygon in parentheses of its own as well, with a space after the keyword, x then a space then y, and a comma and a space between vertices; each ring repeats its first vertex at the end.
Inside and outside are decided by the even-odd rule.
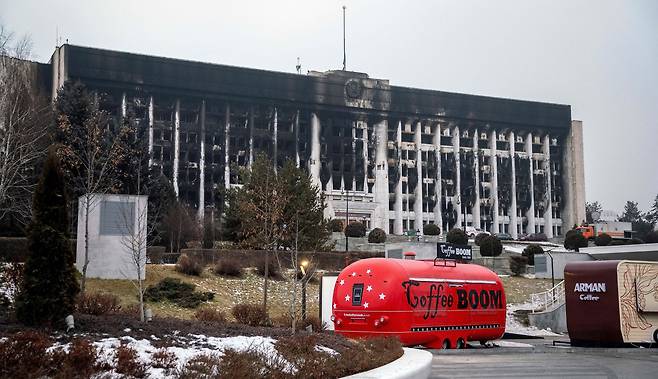
POLYGON ((215 298, 212 292, 195 292, 195 285, 181 282, 180 279, 164 278, 150 286, 144 293, 146 301, 171 301, 183 308, 196 308, 202 302, 215 298))

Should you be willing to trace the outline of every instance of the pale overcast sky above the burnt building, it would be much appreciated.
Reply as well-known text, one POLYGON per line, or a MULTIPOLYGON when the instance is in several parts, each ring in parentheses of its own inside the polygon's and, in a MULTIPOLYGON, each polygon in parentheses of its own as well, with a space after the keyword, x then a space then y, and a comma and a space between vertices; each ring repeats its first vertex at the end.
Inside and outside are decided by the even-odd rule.
POLYGON ((658 194, 658 1, 0 0, 46 62, 69 43, 294 72, 342 65, 393 85, 570 104, 587 201, 658 194))

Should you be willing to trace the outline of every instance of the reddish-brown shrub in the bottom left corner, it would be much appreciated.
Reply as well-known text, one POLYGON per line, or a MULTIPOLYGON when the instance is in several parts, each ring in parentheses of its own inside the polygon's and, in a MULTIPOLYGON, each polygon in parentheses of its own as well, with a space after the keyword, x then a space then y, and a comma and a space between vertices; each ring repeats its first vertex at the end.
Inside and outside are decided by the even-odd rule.
POLYGON ((26 330, 0 342, 0 378, 38 378, 46 376, 48 336, 26 330))

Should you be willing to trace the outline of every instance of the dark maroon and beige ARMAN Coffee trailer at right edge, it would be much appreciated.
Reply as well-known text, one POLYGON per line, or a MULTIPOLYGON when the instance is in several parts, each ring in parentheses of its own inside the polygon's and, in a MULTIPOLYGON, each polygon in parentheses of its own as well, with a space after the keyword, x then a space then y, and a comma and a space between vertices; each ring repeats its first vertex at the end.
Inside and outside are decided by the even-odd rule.
POLYGON ((658 262, 569 263, 564 290, 572 345, 658 343, 658 262))

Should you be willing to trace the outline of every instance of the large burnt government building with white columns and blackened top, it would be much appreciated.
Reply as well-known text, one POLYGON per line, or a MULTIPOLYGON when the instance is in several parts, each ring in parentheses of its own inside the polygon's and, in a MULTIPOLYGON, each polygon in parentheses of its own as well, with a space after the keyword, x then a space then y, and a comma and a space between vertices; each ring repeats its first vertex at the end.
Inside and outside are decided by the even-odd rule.
POLYGON ((79 80, 148 130, 149 164, 199 217, 260 151, 307 168, 326 217, 349 205, 350 220, 388 233, 434 223, 552 237, 585 218, 582 124, 568 105, 68 44, 49 64, 53 97, 79 80))

